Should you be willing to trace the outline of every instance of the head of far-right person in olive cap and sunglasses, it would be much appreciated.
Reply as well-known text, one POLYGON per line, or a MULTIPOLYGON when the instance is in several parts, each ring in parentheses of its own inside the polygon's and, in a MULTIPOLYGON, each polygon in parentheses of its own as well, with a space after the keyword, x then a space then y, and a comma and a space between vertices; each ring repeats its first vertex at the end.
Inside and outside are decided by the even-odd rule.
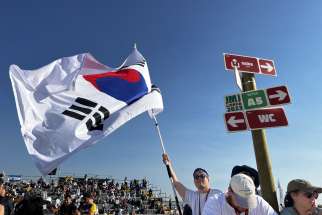
POLYGON ((287 185, 285 207, 295 207, 298 211, 310 211, 315 207, 315 199, 322 193, 321 187, 313 186, 303 179, 294 179, 287 185))

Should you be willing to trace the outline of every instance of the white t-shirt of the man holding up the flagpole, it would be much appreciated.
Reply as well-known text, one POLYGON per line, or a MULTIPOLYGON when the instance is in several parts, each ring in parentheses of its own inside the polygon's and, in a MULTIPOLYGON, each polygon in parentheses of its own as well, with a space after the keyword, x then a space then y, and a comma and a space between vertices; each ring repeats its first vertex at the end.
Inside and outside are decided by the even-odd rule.
POLYGON ((192 215, 200 215, 203 207, 205 206, 206 199, 208 200, 210 197, 221 194, 222 191, 217 189, 210 189, 209 193, 201 193, 193 190, 186 190, 185 193, 185 203, 190 205, 192 210, 192 215), (200 207, 200 212, 199 212, 200 207))

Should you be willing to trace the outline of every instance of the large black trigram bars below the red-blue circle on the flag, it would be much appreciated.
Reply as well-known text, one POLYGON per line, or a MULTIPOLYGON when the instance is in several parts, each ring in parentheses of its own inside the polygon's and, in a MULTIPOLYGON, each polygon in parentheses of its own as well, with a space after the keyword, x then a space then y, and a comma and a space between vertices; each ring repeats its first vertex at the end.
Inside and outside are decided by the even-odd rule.
POLYGON ((78 120, 83 120, 90 115, 94 118, 95 122, 93 122, 93 120, 89 118, 86 121, 87 129, 89 131, 102 131, 103 121, 110 116, 110 112, 105 107, 98 107, 98 104, 96 102, 90 101, 85 98, 77 97, 75 99, 75 103, 77 103, 77 105, 71 105, 68 110, 65 110, 63 112, 63 114, 78 120))

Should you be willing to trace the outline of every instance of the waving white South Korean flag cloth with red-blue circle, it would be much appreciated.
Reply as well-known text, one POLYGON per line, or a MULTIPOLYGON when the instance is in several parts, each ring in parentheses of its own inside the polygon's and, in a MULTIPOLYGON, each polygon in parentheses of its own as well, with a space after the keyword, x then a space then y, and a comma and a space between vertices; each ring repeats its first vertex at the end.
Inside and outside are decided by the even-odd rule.
POLYGON ((86 53, 36 70, 11 65, 9 72, 22 136, 43 175, 135 116, 163 110, 136 48, 115 69, 86 53))

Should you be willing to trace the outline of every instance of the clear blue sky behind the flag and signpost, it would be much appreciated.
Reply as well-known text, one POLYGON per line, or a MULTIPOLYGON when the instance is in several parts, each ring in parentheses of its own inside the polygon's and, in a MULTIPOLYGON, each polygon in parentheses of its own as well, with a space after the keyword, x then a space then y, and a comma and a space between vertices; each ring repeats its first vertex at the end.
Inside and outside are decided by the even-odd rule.
MULTIPOLYGON (((322 16, 320 1, 7 1, 0 8, 0 169, 38 175, 20 134, 9 65, 36 69, 90 52, 119 66, 133 44, 162 90, 158 117, 177 175, 207 169, 225 190, 234 165, 256 167, 250 132, 227 133, 224 96, 238 92, 223 53, 273 59, 277 77, 256 76, 258 89, 287 85, 289 126, 267 130, 275 181, 322 185, 322 16)), ((161 147, 147 114, 75 154, 62 172, 142 178, 171 194, 161 147)))

